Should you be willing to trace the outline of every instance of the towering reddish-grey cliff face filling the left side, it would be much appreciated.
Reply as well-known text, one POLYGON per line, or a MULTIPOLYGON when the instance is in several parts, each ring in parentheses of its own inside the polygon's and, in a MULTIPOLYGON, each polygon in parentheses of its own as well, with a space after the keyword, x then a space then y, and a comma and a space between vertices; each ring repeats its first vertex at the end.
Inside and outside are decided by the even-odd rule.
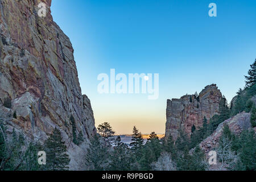
POLYGON ((88 139, 96 133, 93 111, 81 94, 72 44, 53 22, 50 6, 51 0, 0 0, 0 105, 16 113, 9 131, 14 127, 43 141, 60 129, 70 167, 79 169, 88 139), (46 17, 38 16, 41 2, 46 17), (80 146, 72 142, 71 115, 85 138, 80 146))

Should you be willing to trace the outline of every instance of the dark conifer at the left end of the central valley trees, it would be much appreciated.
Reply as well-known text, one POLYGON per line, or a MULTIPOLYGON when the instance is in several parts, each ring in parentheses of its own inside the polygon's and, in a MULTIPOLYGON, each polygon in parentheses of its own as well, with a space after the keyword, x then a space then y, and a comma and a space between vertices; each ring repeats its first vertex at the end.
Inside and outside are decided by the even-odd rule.
POLYGON ((85 156, 85 165, 89 170, 103 171, 109 166, 108 158, 109 154, 107 146, 101 142, 101 137, 99 135, 94 135, 93 138, 90 139, 90 145, 85 156))

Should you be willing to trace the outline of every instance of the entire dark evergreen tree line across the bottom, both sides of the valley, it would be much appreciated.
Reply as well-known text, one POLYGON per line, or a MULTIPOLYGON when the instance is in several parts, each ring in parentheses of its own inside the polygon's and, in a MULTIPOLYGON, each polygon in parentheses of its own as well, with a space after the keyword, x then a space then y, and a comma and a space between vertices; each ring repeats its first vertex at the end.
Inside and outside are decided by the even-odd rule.
MULTIPOLYGON (((98 134, 90 139, 88 151, 85 152, 85 166, 88 170, 207 170, 209 164, 199 143, 216 130, 217 126, 229 117, 246 111, 251 113, 251 126, 255 127, 256 95, 256 60, 246 76, 246 86, 238 90, 236 100, 228 106, 222 97, 218 115, 207 121, 203 126, 192 126, 191 135, 182 129, 174 141, 171 135, 159 139, 152 132, 144 142, 142 134, 134 126, 130 144, 123 143, 121 137, 114 136, 114 131, 108 122, 98 126, 98 134)), ((15 115, 14 115, 15 117, 15 115)), ((73 143, 79 145, 84 138, 76 133, 75 119, 70 118, 73 143)), ((54 129, 43 143, 27 141, 22 133, 13 130, 7 137, 6 126, 0 117, 0 170, 68 170, 69 156, 63 142, 60 130, 54 129), (46 165, 38 164, 38 151, 46 151, 46 165)), ((67 123, 65 123, 67 125, 67 123)), ((245 130, 240 136, 234 135, 228 126, 224 126, 217 151, 219 169, 255 170, 256 169, 256 139, 253 130, 245 130)))

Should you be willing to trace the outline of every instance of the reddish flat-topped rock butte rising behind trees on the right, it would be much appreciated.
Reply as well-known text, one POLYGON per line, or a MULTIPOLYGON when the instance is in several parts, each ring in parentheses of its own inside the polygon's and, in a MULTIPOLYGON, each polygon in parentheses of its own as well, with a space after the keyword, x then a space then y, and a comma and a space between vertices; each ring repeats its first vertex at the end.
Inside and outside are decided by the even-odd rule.
POLYGON ((198 97, 186 95, 180 99, 167 100, 166 137, 172 135, 176 140, 180 128, 190 135, 193 125, 196 126, 196 129, 203 125, 204 117, 209 122, 209 118, 218 114, 221 98, 220 90, 216 84, 212 84, 206 86, 198 97))

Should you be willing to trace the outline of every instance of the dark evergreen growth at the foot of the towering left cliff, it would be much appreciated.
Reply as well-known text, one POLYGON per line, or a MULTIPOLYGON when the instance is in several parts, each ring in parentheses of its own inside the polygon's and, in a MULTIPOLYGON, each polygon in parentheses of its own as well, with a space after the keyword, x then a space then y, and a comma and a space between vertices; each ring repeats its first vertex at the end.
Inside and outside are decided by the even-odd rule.
POLYGON ((41 145, 25 140, 15 130, 11 139, 7 140, 5 125, 0 121, 0 171, 63 171, 68 169, 69 164, 66 152, 67 148, 57 129, 41 145), (39 151, 46 151, 46 165, 38 164, 39 151))

